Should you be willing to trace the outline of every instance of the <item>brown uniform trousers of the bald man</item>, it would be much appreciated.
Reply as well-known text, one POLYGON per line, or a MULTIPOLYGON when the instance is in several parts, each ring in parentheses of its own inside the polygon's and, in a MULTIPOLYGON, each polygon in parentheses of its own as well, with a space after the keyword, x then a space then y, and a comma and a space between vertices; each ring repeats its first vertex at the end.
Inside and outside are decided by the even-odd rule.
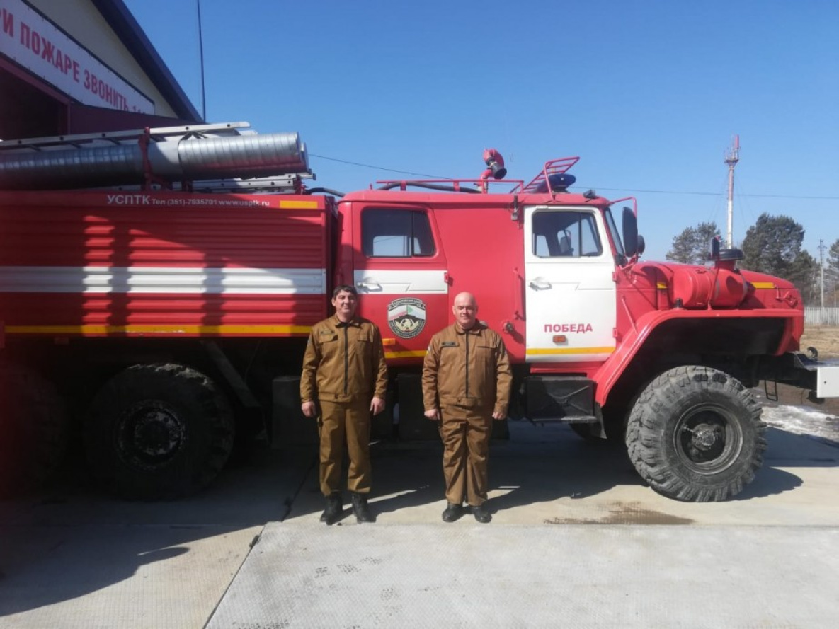
POLYGON ((440 417, 446 500, 459 505, 466 496, 469 505, 480 507, 489 488, 492 408, 447 405, 440 417))

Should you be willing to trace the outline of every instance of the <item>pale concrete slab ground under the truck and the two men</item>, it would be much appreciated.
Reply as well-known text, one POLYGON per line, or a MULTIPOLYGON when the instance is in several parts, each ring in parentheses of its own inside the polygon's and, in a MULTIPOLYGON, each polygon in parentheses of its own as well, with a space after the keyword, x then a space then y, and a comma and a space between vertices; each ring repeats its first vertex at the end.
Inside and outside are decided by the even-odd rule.
POLYGON ((434 442, 373 445, 374 524, 318 521, 305 446, 178 502, 69 474, 0 502, 0 627, 836 626, 839 439, 768 437, 750 486, 695 504, 620 449, 511 422, 485 525, 440 520, 434 442))

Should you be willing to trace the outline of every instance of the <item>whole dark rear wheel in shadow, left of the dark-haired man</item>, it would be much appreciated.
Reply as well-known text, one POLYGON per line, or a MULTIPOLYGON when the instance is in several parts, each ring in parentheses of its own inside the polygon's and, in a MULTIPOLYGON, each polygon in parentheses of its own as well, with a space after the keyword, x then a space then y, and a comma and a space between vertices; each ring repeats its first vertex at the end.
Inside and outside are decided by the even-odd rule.
POLYGON ((137 365, 96 394, 86 455, 96 480, 120 496, 175 498, 218 475, 233 432, 230 404, 209 377, 181 365, 137 365))

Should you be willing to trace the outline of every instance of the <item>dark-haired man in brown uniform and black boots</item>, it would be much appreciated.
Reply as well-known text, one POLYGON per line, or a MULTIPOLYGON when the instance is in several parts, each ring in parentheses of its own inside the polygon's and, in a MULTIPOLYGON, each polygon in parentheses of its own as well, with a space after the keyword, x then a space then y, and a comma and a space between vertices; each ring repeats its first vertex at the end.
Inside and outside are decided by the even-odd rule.
POLYGON ((335 315, 312 326, 303 357, 300 399, 306 417, 317 417, 320 430, 320 491, 326 509, 320 522, 341 517, 341 458, 350 455, 347 486, 358 522, 374 522, 367 507, 370 493, 370 418, 384 410, 388 367, 382 335, 373 322, 356 316, 358 293, 338 286, 332 293, 335 315), (317 405, 320 404, 320 416, 317 405))

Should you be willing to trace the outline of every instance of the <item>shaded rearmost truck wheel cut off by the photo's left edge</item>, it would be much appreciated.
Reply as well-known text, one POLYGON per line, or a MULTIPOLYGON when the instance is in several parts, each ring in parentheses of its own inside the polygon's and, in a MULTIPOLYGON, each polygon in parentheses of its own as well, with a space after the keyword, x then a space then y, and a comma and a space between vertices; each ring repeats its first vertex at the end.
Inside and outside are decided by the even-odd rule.
POLYGON ((68 443, 64 401, 27 367, 0 363, 0 496, 32 491, 55 475, 68 443))

